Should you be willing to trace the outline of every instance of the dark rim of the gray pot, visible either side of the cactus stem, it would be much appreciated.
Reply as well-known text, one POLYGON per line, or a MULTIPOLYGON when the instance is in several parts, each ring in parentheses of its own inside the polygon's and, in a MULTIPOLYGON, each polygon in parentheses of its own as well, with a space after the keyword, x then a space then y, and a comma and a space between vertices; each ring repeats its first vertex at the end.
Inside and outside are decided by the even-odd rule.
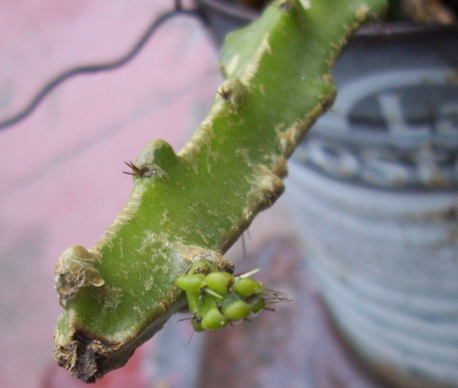
MULTIPOLYGON (((206 7, 214 12, 227 15, 238 19, 240 22, 249 23, 259 16, 259 11, 249 9, 228 0, 195 0, 199 8, 206 7)), ((454 24, 426 24, 412 21, 403 22, 376 22, 361 27, 356 33, 356 37, 396 37, 407 36, 412 34, 443 34, 453 32, 458 34, 458 23, 454 24)))

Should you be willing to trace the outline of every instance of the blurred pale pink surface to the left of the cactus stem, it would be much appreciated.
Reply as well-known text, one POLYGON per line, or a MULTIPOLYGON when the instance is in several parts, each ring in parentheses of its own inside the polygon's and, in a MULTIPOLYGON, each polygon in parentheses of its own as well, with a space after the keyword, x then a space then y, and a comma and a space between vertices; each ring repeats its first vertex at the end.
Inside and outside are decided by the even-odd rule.
MULTIPOLYGON (((0 2, 0 120, 68 68, 125 54, 171 1, 0 2)), ((78 75, 0 131, 0 386, 38 387, 61 308, 53 265, 90 248, 127 201, 124 161, 163 138, 179 151, 218 75, 200 23, 164 24, 124 67, 78 75)))

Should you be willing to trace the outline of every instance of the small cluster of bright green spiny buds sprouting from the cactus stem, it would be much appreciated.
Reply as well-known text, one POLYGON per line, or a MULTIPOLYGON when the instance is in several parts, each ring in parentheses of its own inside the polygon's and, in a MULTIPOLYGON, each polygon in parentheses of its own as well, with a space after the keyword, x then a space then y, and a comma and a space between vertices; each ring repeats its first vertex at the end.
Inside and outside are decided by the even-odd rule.
POLYGON ((186 292, 194 330, 220 329, 230 322, 257 315, 267 303, 288 299, 250 277, 258 271, 235 276, 218 271, 207 261, 197 261, 186 275, 178 277, 177 285, 186 292))

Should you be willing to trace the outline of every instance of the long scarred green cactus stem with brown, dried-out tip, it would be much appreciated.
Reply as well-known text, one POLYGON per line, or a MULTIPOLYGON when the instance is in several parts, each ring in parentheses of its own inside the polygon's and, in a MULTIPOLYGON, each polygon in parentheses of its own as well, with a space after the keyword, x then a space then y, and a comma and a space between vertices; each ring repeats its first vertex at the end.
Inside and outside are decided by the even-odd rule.
MULTIPOLYGON (((55 331, 60 365, 84 381, 102 377, 186 305, 176 280, 194 262, 233 271, 221 254, 283 191, 287 158, 334 98, 333 61, 351 32, 383 6, 277 1, 227 37, 226 80, 185 148, 177 155, 164 141, 147 144, 129 164, 134 187, 115 222, 92 249, 71 247, 56 263, 64 307, 55 331)), ((213 281, 206 287, 224 297, 221 281, 213 281)), ((221 310, 214 295, 205 298, 208 319, 198 323, 208 328, 224 324, 218 314, 242 316, 247 308, 221 310)), ((243 298, 251 312, 262 310, 259 300, 243 298)))

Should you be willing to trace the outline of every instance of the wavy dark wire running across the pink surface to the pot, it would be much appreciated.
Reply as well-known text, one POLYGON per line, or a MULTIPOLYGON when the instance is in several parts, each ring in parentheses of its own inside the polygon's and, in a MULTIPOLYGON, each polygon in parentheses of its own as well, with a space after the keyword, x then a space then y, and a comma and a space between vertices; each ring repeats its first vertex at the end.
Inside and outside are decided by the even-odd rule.
POLYGON ((117 60, 99 63, 99 64, 91 64, 91 65, 82 65, 71 68, 69 70, 64 71, 63 73, 59 74, 58 76, 52 78, 48 82, 46 82, 43 87, 36 93, 34 98, 20 111, 12 115, 11 117, 0 121, 0 130, 6 129, 17 124, 19 121, 25 119, 28 115, 32 113, 32 111, 41 103, 41 101, 45 98, 45 96, 56 86, 60 83, 64 82, 65 80, 78 75, 78 74, 91 74, 97 73, 101 71, 108 71, 117 69, 127 62, 129 62, 132 58, 134 58, 138 52, 142 49, 142 47, 146 44, 149 40, 151 35, 154 31, 164 22, 167 20, 178 16, 178 15, 191 15, 199 17, 200 14, 194 10, 184 10, 181 6, 180 0, 176 0, 175 2, 175 9, 173 11, 167 11, 163 14, 159 15, 148 27, 148 29, 140 36, 137 40, 135 45, 130 49, 122 57, 118 58, 117 60))

